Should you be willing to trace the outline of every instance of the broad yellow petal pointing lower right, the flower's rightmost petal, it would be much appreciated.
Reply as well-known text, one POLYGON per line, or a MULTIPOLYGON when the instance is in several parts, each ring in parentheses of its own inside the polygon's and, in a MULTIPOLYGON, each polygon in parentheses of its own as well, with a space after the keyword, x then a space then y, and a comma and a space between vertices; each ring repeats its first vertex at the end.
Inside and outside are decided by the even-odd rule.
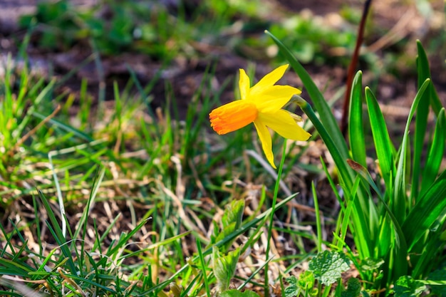
POLYGON ((296 120, 286 110, 277 110, 273 113, 259 113, 256 123, 261 123, 276 131, 282 137, 290 140, 308 140, 310 133, 297 125, 296 120))

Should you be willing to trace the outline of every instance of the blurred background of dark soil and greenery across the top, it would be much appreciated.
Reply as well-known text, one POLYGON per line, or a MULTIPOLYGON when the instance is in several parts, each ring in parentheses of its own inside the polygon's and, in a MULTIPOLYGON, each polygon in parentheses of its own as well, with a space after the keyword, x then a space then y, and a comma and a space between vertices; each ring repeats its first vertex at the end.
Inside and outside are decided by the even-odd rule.
MULTIPOLYGON (((358 0, 0 0, 2 59, 26 54, 33 71, 65 78, 61 88, 113 98, 129 68, 151 83, 162 106, 166 82, 178 104, 188 100, 212 68, 212 88, 229 79, 223 101, 234 98, 238 68, 260 77, 285 63, 269 30, 304 63, 326 98, 340 96, 356 43, 364 1, 358 0), (71 75, 66 76, 67 73, 71 75), (103 88, 103 90, 99 90, 103 88)), ((372 1, 358 69, 395 116, 407 115, 415 90, 417 39, 430 55, 432 76, 445 98, 446 34, 443 1, 372 1)), ((296 75, 287 83, 299 86, 296 75)), ((305 95, 305 93, 304 93, 305 95)), ((390 111, 389 111, 390 110, 390 111)))

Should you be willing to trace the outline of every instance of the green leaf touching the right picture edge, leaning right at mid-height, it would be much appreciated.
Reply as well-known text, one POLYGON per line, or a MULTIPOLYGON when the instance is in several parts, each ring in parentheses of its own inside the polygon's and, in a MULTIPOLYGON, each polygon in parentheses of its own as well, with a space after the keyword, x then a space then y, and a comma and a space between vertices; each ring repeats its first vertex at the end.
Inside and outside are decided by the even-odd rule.
MULTIPOLYGON (((430 145, 430 150, 427 154, 425 168, 422 171, 420 195, 424 194, 432 182, 435 181, 438 170, 440 170, 440 165, 444 157, 443 152, 445 152, 445 129, 445 108, 442 108, 438 114, 432 144, 430 145)), ((413 172, 413 174, 415 175, 415 172, 413 172)), ((418 178, 420 177, 418 176, 418 178)))

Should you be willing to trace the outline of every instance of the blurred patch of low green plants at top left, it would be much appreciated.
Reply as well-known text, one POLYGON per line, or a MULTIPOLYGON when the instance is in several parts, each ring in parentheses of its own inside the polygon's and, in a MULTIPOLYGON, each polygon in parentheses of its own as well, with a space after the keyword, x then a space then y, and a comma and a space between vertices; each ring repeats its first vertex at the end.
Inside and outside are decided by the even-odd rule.
POLYGON ((22 16, 20 25, 33 28, 43 48, 66 50, 74 43, 90 42, 103 54, 140 51, 162 59, 180 48, 177 41, 184 38, 174 36, 185 34, 177 26, 187 24, 169 14, 157 1, 99 1, 95 6, 81 9, 71 1, 60 0, 40 1, 36 13, 22 16))

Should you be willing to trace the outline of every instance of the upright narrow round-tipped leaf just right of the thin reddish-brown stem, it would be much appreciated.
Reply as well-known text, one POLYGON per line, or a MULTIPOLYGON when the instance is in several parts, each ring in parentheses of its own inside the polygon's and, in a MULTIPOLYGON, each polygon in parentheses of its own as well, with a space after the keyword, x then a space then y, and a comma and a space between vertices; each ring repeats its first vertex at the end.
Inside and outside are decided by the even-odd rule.
POLYGON ((363 125, 363 73, 358 71, 353 79, 350 97, 350 119, 348 121, 348 140, 353 160, 366 167, 363 125))

